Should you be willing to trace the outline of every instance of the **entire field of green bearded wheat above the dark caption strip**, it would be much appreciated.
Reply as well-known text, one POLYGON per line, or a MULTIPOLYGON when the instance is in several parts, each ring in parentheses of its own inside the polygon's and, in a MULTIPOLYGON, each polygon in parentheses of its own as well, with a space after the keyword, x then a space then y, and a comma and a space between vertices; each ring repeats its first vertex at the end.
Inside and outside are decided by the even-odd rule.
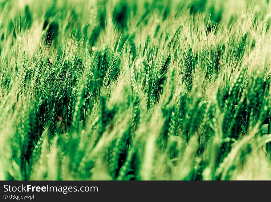
POLYGON ((271 180, 267 0, 1 0, 1 180, 271 180))

